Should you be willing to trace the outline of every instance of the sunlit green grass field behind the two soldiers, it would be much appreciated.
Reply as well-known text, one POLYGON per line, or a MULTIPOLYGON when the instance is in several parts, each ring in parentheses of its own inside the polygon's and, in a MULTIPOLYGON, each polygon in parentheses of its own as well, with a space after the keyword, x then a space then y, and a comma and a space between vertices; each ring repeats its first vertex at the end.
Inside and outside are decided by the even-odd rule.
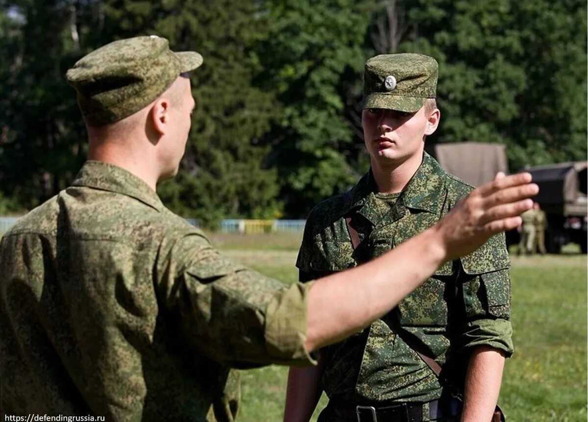
MULTIPOLYGON (((212 234, 211 240, 262 273, 286 283, 297 278, 299 235, 212 234)), ((577 254, 512 258, 516 351, 500 394, 510 421, 586 421, 586 264, 586 255, 577 254)), ((243 371, 239 421, 280 421, 287 374, 277 366, 243 371)), ((325 403, 323 397, 318 410, 325 403)))

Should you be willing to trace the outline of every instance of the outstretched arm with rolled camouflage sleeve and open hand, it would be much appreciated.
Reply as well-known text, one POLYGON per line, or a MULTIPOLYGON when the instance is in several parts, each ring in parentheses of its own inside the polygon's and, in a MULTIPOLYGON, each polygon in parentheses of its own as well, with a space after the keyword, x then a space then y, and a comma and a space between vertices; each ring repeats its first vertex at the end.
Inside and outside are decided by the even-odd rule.
POLYGON ((367 327, 443 262, 520 224, 517 216, 532 206, 524 198, 538 191, 530 180, 527 173, 486 184, 382 257, 306 285, 236 265, 198 231, 168 236, 158 250, 158 302, 178 317, 186 345, 215 361, 308 364, 309 351, 367 327))

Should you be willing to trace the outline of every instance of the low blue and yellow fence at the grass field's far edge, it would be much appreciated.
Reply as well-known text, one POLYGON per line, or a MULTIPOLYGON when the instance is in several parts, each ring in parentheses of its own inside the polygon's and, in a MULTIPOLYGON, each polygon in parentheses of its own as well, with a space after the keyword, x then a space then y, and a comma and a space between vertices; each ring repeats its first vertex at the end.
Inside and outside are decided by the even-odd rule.
MULTIPOLYGON (((0 233, 8 230, 19 217, 0 217, 0 233)), ((189 224, 200 227, 195 218, 186 218, 189 224)), ((296 233, 304 230, 306 220, 221 220, 220 230, 225 233, 296 233)))

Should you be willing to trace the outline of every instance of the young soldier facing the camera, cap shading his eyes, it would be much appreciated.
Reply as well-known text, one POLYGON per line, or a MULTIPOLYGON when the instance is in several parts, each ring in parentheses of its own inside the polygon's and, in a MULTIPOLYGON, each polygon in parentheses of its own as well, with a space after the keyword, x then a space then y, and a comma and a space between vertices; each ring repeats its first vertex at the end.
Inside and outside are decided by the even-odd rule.
MULTIPOLYGON (((423 152, 440 117, 436 82, 437 62, 424 55, 366 62, 362 125, 371 169, 310 212, 296 263, 300 281, 397 247, 472 191, 423 152)), ((489 421, 513 353, 509 318, 509 256, 499 235, 446 262, 366 330, 321 350, 318 367, 292 368, 285 421, 308 422, 320 390, 329 397, 320 422, 458 420, 456 393, 465 393, 465 420, 489 421), (440 377, 427 357, 442 368, 440 377)))

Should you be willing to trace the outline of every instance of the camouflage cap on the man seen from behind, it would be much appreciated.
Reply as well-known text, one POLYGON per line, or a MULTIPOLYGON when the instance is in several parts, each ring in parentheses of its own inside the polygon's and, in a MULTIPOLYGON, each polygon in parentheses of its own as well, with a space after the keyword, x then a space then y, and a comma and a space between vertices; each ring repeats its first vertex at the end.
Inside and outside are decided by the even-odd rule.
POLYGON ((137 36, 111 42, 85 55, 68 70, 88 125, 119 121, 149 105, 183 72, 198 68, 195 51, 173 52, 167 39, 137 36))

